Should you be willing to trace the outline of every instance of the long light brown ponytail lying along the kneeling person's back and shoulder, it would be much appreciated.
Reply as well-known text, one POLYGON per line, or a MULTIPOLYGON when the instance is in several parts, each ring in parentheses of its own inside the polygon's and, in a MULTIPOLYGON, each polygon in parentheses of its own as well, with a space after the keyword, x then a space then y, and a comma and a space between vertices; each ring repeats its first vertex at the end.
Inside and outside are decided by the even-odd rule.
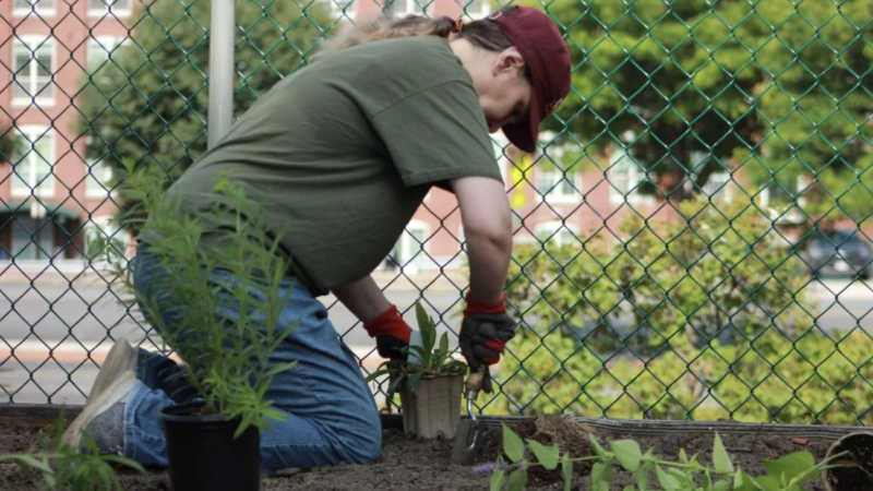
MULTIPOLYGON (((509 13, 517 7, 507 7, 501 12, 509 13)), ((500 31, 497 23, 489 19, 465 24, 452 17, 422 17, 409 15, 393 22, 372 21, 358 22, 346 32, 322 43, 315 59, 323 58, 342 49, 351 48, 364 43, 411 36, 440 36, 447 38, 451 34, 467 39, 474 46, 489 51, 503 51, 512 47, 510 38, 500 31)))

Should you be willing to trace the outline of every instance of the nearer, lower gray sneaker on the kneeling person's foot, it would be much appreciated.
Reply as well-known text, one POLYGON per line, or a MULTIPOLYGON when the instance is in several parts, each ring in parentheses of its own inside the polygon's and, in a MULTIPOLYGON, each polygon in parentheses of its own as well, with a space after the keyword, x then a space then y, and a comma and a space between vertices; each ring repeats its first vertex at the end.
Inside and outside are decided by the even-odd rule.
POLYGON ((115 453, 121 447, 124 436, 124 402, 136 383, 133 370, 125 371, 94 399, 87 402, 82 412, 63 432, 61 444, 80 452, 88 448, 82 431, 88 432, 100 451, 115 453))

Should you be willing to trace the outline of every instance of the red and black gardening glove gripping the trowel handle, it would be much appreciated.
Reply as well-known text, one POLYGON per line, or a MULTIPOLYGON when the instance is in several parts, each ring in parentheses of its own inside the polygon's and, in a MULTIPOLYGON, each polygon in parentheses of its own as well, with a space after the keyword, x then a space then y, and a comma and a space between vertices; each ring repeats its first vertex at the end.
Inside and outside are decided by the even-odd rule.
POLYGON ((485 366, 482 391, 491 394, 491 372, 488 367, 498 363, 506 343, 515 336, 515 321, 506 314, 505 296, 494 304, 482 303, 467 294, 467 308, 461 324, 458 345, 470 372, 485 366))

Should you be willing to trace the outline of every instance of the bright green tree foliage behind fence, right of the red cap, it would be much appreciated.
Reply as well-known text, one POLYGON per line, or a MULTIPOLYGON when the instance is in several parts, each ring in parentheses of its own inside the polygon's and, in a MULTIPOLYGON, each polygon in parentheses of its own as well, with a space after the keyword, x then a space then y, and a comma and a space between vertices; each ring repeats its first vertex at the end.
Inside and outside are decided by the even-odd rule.
POLYGON ((641 192, 685 199, 731 158, 754 177, 749 194, 793 197, 801 172, 864 170, 870 2, 562 0, 549 12, 574 67, 550 124, 588 154, 626 147, 649 172, 641 192))

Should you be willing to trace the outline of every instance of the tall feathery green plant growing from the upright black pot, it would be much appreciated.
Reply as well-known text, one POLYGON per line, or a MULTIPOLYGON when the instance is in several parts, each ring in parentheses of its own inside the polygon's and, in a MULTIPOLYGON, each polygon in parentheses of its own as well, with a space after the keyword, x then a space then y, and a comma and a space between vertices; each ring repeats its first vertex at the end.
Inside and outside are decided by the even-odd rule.
POLYGON ((268 429, 270 420, 286 414, 272 407, 266 391, 275 375, 295 366, 271 363, 270 356, 297 322, 279 322, 292 288, 278 252, 280 237, 265 225, 264 204, 223 176, 211 205, 183 211, 165 194, 165 173, 137 169, 129 159, 124 167, 121 187, 135 203, 124 221, 150 237, 148 253, 165 272, 152 276, 151 291, 141 291, 132 277, 135 262, 124 262, 116 273, 132 294, 127 301, 139 303, 187 363, 179 375, 203 398, 201 414, 240 418, 235 438, 250 426, 268 429))

